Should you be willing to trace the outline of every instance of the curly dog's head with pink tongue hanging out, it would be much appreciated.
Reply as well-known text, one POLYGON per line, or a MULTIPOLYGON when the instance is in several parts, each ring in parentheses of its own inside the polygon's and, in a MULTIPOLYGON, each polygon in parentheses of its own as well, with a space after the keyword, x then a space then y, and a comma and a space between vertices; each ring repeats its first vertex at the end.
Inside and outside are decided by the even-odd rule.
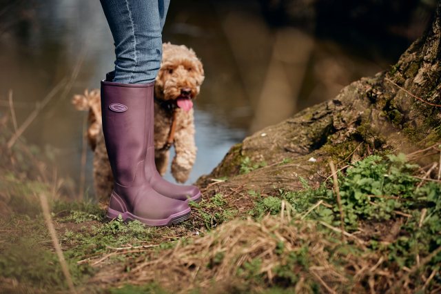
POLYGON ((188 111, 203 81, 202 63, 192 49, 163 44, 163 61, 154 86, 156 99, 176 101, 179 108, 188 111))

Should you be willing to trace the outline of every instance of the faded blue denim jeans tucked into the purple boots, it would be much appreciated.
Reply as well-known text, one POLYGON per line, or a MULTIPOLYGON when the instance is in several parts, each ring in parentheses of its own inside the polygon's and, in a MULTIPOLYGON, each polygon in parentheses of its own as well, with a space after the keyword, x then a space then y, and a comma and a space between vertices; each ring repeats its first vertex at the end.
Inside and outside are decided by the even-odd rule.
POLYGON ((115 45, 116 83, 147 84, 162 59, 162 30, 170 0, 100 0, 115 45))

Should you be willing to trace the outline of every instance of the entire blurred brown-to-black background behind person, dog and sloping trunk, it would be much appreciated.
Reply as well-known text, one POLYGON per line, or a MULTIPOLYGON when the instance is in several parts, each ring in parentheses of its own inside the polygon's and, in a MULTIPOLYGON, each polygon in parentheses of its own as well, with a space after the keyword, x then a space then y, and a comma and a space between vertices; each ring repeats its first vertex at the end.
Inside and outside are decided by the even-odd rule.
MULTIPOLYGON (((198 157, 189 182, 209 173, 246 135, 389 69, 427 28, 435 3, 172 1, 163 41, 194 48, 206 75, 196 101, 198 157)), ((113 60, 99 1, 0 0, 0 117, 10 112, 12 97, 21 125, 52 91, 23 137, 50 150, 58 173, 90 195, 86 114, 74 110, 70 98, 98 88, 113 60)), ((68 193, 80 194, 72 186, 68 193)))

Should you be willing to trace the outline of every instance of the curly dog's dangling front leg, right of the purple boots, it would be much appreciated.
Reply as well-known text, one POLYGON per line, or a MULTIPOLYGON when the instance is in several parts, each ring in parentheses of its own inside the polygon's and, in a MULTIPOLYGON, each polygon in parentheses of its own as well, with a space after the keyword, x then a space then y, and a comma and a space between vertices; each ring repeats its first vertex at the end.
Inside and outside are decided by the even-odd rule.
POLYGON ((196 144, 194 143, 193 120, 185 128, 176 130, 174 136, 176 155, 172 161, 172 175, 177 182, 187 181, 196 160, 196 144))

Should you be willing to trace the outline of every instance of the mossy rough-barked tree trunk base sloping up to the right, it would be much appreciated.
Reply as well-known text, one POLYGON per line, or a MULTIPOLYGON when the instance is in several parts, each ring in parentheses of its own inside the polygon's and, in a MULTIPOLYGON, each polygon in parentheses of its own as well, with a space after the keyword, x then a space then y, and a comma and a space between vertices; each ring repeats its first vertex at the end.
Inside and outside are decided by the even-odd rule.
MULTIPOLYGON (((441 2, 431 28, 391 70, 355 81, 331 101, 233 146, 210 175, 198 179, 205 195, 227 190, 239 193, 240 213, 247 210, 247 203, 252 204, 243 192, 298 190, 300 177, 316 186, 329 175, 329 160, 341 168, 373 153, 409 153, 441 142, 441 106, 437 105, 441 104, 440 17, 441 2), (263 162, 266 166, 257 168, 263 162), (242 171, 252 171, 241 174, 241 166, 242 171), (227 180, 212 180, 221 177, 227 180)), ((419 163, 433 162, 434 156, 439 155, 418 159, 419 163)))

